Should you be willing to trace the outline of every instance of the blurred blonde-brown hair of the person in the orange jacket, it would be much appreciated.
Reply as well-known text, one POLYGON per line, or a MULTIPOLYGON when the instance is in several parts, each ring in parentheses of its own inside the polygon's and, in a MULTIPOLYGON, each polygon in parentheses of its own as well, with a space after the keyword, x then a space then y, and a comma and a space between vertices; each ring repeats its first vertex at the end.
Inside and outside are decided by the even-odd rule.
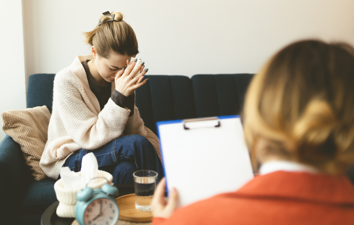
POLYGON ((242 115, 255 170, 262 142, 268 156, 343 173, 354 162, 353 87, 347 44, 299 41, 275 54, 253 78, 242 115))

